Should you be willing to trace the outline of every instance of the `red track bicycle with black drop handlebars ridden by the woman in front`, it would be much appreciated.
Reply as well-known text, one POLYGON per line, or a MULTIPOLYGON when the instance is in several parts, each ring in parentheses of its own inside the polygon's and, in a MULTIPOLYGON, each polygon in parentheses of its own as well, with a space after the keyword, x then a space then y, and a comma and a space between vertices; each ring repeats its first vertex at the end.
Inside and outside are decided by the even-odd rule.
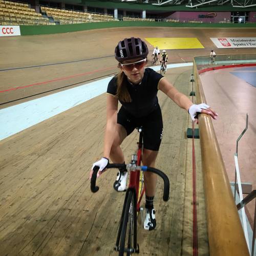
MULTIPOLYGON (((141 223, 143 223, 143 208, 140 207, 140 202, 144 195, 145 188, 143 186, 143 172, 152 172, 159 175, 164 181, 163 200, 169 199, 169 179, 161 172, 161 170, 141 166, 142 151, 143 151, 143 129, 138 127, 139 142, 137 143, 137 154, 132 156, 131 163, 129 164, 108 164, 109 168, 119 168, 130 172, 129 187, 126 190, 125 199, 122 208, 122 215, 119 222, 117 233, 116 245, 114 250, 118 251, 119 256, 131 255, 132 253, 139 253, 139 244, 137 243, 137 218, 141 214, 141 223)), ((99 190, 96 186, 96 178, 98 173, 98 166, 94 166, 91 179, 91 191, 93 193, 99 190)))

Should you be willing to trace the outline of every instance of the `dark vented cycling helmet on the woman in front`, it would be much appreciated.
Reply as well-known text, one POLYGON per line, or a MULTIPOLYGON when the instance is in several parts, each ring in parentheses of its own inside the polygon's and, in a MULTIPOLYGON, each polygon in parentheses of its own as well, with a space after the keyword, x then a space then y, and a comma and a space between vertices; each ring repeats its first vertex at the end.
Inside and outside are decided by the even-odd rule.
POLYGON ((115 58, 119 62, 140 57, 146 58, 147 54, 146 43, 136 37, 124 38, 118 42, 115 49, 115 58))

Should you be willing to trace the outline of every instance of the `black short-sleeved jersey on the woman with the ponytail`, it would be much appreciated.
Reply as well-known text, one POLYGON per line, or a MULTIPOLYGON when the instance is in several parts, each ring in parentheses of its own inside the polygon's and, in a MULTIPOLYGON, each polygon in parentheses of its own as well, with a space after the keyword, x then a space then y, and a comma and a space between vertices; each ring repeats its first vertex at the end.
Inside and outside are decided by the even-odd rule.
MULTIPOLYGON (((140 84, 127 82, 127 90, 131 95, 132 102, 123 102, 123 108, 134 117, 142 117, 150 114, 158 106, 158 83, 163 76, 153 69, 146 68, 140 84)), ((108 85, 109 94, 116 95, 117 77, 113 77, 108 85)))

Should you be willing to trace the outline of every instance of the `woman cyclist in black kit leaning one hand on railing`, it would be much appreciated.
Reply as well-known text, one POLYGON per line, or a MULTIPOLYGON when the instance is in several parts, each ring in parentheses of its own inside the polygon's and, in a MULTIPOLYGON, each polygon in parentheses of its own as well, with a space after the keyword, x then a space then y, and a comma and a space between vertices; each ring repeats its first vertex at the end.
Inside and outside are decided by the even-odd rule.
MULTIPOLYGON (((143 126, 143 165, 155 167, 163 134, 163 121, 157 92, 161 90, 181 108, 188 111, 198 122, 197 114, 202 112, 216 119, 217 114, 208 105, 193 104, 184 94, 153 69, 146 68, 148 49, 140 38, 125 38, 118 42, 115 58, 120 72, 108 85, 106 95, 106 129, 103 157, 93 164, 99 166, 98 175, 105 169, 109 158, 114 163, 123 163, 120 144, 138 126, 143 126), (121 108, 118 111, 118 101, 121 108)), ((92 170, 91 170, 92 174, 92 170)), ((119 172, 114 188, 123 191, 127 172, 119 172)), ((153 200, 156 190, 156 175, 144 173, 146 216, 144 229, 156 227, 153 200)))

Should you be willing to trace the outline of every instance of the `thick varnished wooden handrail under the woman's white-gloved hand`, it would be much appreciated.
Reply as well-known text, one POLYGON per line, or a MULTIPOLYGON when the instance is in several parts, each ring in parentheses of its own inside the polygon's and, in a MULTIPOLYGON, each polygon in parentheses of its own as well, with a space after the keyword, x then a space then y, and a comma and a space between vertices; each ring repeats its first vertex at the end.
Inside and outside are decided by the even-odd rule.
MULTIPOLYGON (((197 103, 206 103, 194 59, 197 103)), ((199 115, 202 170, 210 255, 249 255, 242 224, 211 118, 199 115)))

